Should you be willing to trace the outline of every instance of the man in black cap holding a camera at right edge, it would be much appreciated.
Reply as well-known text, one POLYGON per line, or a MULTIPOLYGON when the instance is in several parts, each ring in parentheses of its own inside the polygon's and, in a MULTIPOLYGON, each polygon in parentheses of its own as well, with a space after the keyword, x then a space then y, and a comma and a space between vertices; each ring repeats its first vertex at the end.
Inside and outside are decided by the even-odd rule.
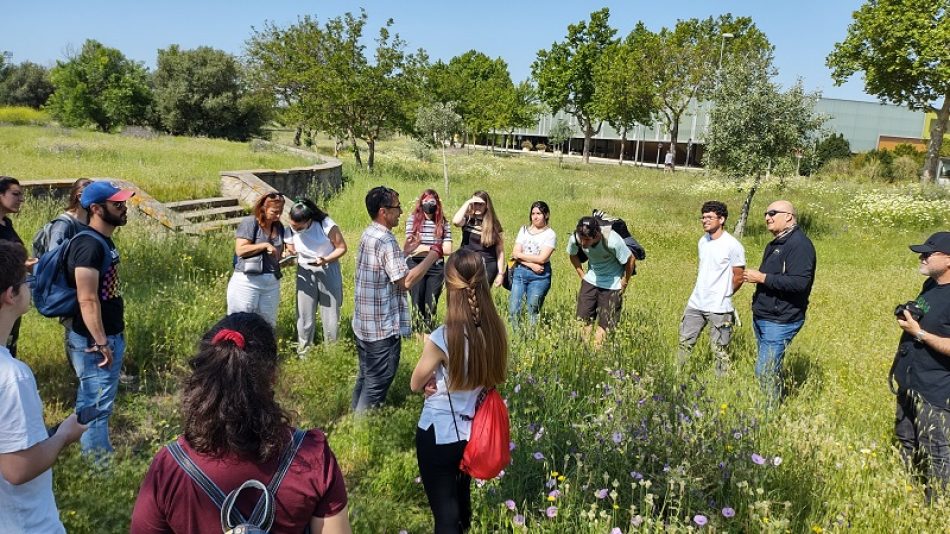
POLYGON ((930 500, 935 484, 946 488, 950 481, 950 232, 910 249, 928 278, 916 306, 908 303, 895 313, 904 333, 891 371, 897 382, 894 432, 907 465, 921 461, 930 500))

